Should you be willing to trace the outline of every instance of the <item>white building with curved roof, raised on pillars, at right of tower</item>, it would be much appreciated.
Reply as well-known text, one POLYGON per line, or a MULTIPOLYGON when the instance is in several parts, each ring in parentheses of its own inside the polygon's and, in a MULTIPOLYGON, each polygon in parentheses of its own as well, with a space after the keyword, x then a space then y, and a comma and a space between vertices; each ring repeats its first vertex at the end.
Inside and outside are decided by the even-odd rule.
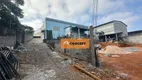
POLYGON ((94 28, 100 41, 121 40, 128 36, 127 25, 122 21, 110 21, 94 28))

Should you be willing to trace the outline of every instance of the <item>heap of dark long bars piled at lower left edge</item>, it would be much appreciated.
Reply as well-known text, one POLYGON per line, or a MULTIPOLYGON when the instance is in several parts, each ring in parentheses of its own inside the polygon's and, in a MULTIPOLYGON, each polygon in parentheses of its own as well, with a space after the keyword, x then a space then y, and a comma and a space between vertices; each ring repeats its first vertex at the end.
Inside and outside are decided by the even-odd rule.
POLYGON ((20 78, 16 69, 18 60, 7 47, 0 48, 0 80, 20 78))

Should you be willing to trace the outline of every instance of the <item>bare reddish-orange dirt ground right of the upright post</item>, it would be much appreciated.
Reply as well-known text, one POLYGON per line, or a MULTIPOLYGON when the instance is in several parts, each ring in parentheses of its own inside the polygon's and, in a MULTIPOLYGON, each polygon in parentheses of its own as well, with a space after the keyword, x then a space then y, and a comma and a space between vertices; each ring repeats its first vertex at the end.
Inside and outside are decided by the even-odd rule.
MULTIPOLYGON (((107 45, 110 45, 110 43, 104 43, 103 47, 107 45)), ((99 57, 104 62, 105 68, 109 68, 115 73, 127 74, 126 80, 142 80, 142 47, 138 45, 133 45, 133 47, 138 48, 140 51, 133 52, 133 54, 121 54, 120 57, 115 58, 102 54, 99 54, 99 57)))

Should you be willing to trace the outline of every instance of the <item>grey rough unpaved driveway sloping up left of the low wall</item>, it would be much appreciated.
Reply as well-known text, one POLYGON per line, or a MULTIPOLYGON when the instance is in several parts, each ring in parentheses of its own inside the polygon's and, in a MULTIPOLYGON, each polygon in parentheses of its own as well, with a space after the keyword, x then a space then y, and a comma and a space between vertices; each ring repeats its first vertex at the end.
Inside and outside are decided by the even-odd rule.
POLYGON ((51 51, 40 39, 25 44, 27 50, 16 55, 20 62, 21 80, 92 80, 75 71, 72 60, 51 51))

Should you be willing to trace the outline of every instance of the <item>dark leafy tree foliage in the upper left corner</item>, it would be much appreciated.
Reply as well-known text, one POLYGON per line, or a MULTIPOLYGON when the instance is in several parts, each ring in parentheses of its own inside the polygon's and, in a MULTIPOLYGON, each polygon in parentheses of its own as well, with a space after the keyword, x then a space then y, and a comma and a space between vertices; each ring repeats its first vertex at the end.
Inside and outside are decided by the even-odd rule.
POLYGON ((23 11, 19 5, 24 0, 0 0, 0 24, 17 29, 21 26, 18 17, 23 18, 23 11))

